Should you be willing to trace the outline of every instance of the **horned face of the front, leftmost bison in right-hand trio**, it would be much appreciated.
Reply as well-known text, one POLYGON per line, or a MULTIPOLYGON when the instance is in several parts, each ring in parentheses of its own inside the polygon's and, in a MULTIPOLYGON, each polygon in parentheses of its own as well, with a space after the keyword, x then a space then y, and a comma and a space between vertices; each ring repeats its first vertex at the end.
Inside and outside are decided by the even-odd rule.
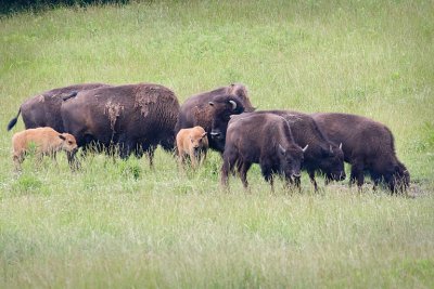
POLYGON ((285 178, 301 178, 301 170, 303 163, 303 154, 307 149, 308 145, 301 148, 297 145, 282 146, 278 145, 278 156, 280 162, 280 171, 285 178))

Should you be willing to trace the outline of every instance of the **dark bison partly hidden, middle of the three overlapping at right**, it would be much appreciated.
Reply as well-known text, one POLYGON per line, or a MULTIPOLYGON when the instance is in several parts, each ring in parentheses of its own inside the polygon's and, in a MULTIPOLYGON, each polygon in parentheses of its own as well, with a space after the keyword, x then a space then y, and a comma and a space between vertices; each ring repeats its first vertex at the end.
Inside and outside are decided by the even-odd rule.
POLYGON ((295 143, 301 147, 309 145, 309 149, 304 154, 303 169, 308 172, 315 191, 318 191, 315 180, 316 171, 320 171, 326 175, 326 182, 345 179, 342 144, 337 146, 331 142, 318 128, 311 116, 293 110, 265 110, 258 113, 271 113, 283 117, 290 123, 295 143))

